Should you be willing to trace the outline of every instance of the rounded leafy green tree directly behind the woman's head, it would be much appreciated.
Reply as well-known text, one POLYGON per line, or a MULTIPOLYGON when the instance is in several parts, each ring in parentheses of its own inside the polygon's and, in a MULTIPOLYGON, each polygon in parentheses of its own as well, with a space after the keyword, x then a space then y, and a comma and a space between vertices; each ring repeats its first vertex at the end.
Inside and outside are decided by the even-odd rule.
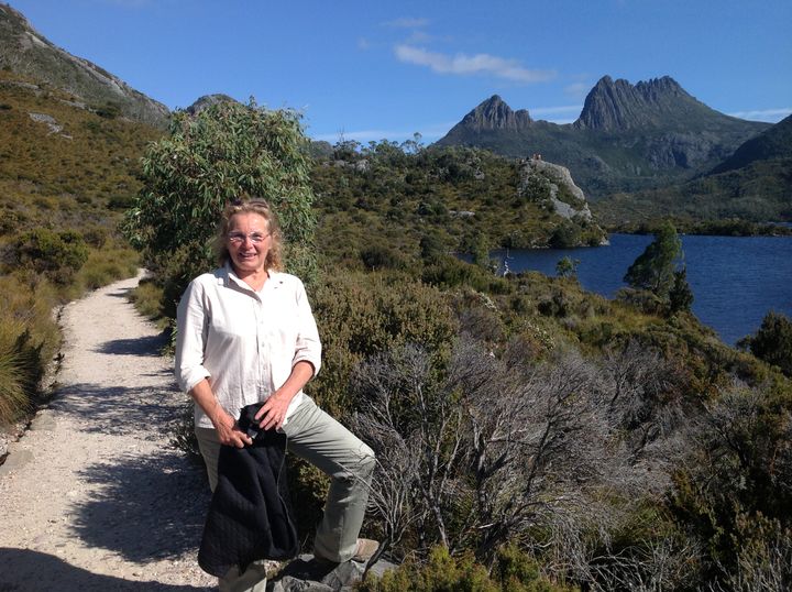
POLYGON ((124 222, 169 303, 213 266, 220 212, 245 194, 270 201, 288 241, 289 270, 310 279, 315 218, 305 144, 293 111, 220 102, 174 116, 169 136, 143 158, 144 187, 124 222))

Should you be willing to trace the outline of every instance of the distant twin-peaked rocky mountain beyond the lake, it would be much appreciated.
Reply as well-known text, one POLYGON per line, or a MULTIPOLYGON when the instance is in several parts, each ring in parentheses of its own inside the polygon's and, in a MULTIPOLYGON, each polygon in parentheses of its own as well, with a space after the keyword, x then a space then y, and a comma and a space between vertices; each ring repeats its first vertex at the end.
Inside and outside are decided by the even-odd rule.
POLYGON ((513 111, 493 96, 438 144, 516 157, 542 154, 569 167, 596 199, 692 178, 768 127, 708 108, 668 76, 635 86, 605 76, 574 123, 535 121, 528 111, 513 111))

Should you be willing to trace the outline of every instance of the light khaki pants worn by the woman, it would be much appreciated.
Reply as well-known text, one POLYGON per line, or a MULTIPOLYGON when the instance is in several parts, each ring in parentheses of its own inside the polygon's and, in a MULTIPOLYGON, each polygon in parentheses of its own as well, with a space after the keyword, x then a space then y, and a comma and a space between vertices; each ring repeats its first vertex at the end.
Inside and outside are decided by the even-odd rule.
MULTIPOLYGON (((306 396, 294 415, 283 427, 288 438, 287 450, 307 460, 330 476, 330 491, 324 503, 324 514, 314 539, 314 553, 323 559, 343 562, 354 556, 358 535, 363 525, 363 515, 369 500, 369 485, 374 472, 374 452, 359 440, 350 430, 321 410, 314 399, 306 396)), ((198 446, 207 465, 209 486, 217 486, 217 465, 220 456, 220 442, 213 429, 196 428, 198 446)), ((242 579, 246 580, 253 563, 242 579)), ((237 588, 234 582, 240 575, 229 572, 220 579, 220 589, 229 592, 264 590, 253 582, 248 588, 237 588), (226 581, 227 588, 223 588, 226 581)), ((263 571, 263 569, 261 570, 263 571)), ((242 583, 242 582, 240 582, 242 583)))

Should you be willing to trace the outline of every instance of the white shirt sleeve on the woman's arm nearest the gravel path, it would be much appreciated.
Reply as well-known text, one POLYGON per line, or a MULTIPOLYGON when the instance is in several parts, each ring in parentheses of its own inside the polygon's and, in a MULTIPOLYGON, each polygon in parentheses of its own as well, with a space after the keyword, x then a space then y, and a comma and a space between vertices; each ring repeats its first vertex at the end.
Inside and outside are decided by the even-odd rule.
POLYGON ((208 330, 207 303, 204 286, 194 281, 182 296, 176 311, 175 373, 179 387, 189 392, 211 373, 204 366, 204 351, 208 330))

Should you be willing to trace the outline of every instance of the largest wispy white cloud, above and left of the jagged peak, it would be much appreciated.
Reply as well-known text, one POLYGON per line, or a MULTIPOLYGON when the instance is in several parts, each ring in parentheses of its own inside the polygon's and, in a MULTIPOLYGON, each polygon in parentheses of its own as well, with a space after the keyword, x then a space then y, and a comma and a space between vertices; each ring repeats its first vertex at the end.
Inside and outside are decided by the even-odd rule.
POLYGON ((452 57, 406 44, 396 45, 394 51, 400 62, 427 66, 438 74, 490 74, 517 83, 542 83, 556 76, 554 72, 527 69, 515 59, 505 59, 490 54, 473 56, 457 54, 452 57))

